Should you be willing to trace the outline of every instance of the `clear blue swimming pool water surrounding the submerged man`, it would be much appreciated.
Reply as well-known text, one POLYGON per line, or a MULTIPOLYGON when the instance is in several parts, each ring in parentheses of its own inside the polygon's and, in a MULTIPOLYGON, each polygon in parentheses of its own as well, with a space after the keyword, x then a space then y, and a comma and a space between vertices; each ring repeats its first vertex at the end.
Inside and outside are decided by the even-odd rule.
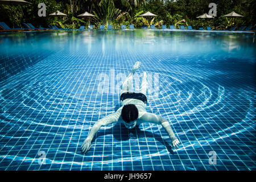
POLYGON ((0 47, 0 170, 255 170, 254 34, 17 32, 0 47), (162 126, 117 123, 82 154, 136 61, 134 89, 146 71, 146 110, 170 122, 180 148, 162 126))

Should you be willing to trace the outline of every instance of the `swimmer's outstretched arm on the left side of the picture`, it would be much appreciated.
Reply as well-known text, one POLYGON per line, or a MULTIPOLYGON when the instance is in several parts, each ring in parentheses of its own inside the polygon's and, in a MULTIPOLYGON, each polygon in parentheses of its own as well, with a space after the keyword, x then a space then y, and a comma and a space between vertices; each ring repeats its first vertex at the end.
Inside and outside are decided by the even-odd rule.
POLYGON ((90 150, 92 139, 96 135, 98 130, 100 130, 101 126, 105 126, 105 125, 109 125, 111 123, 117 122, 119 116, 120 116, 120 113, 118 112, 118 113, 109 114, 106 117, 98 120, 93 125, 92 129, 88 134, 88 137, 84 140, 84 143, 82 143, 82 148, 81 148, 82 152, 87 152, 88 150, 90 150))

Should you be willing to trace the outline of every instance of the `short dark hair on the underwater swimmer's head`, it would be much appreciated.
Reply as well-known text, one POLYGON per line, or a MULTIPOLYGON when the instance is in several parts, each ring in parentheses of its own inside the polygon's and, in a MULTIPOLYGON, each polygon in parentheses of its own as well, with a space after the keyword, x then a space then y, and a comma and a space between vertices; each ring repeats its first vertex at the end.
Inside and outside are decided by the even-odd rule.
POLYGON ((134 104, 124 105, 122 108, 121 116, 123 121, 130 123, 138 118, 139 112, 137 107, 134 104))

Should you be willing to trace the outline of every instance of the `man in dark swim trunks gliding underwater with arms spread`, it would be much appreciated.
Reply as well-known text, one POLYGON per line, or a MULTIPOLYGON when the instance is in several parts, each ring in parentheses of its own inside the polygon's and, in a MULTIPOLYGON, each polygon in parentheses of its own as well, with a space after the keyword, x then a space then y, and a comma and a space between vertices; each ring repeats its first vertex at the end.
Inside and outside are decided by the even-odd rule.
POLYGON ((136 125, 144 122, 155 123, 162 125, 167 131, 169 137, 172 140, 172 147, 179 148, 179 140, 175 137, 174 131, 172 131, 169 122, 159 117, 158 115, 147 113, 145 107, 147 104, 147 73, 143 72, 142 84, 139 88, 139 93, 129 92, 129 88, 133 81, 133 75, 135 71, 141 66, 141 62, 137 61, 131 72, 127 76, 126 80, 122 84, 120 100, 122 101, 122 107, 120 107, 115 113, 109 114, 104 118, 98 120, 89 132, 88 137, 82 143, 82 152, 90 150, 91 142, 94 135, 100 129, 101 126, 109 125, 112 123, 123 123, 127 129, 133 129, 136 125))

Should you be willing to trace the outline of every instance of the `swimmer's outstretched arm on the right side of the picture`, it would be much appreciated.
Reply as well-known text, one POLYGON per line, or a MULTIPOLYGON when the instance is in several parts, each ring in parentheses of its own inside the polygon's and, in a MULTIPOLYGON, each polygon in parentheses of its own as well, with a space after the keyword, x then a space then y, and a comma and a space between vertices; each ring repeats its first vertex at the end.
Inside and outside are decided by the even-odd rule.
POLYGON ((141 117, 143 122, 150 122, 150 123, 155 123, 158 125, 162 125, 163 128, 166 130, 168 133, 169 137, 172 140, 172 146, 175 147, 176 149, 179 148, 179 140, 175 137, 174 131, 172 131, 171 126, 169 122, 162 117, 159 117, 158 115, 151 114, 151 113, 145 113, 141 117))

